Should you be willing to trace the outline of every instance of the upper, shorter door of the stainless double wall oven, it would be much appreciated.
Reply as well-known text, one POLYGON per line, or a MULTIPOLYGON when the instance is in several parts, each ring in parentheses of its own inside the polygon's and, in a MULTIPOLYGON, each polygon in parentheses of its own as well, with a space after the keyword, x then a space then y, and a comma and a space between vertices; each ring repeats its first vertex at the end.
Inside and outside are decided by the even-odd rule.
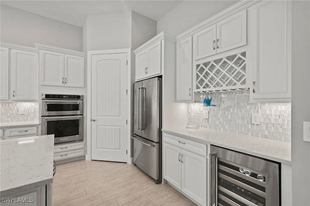
POLYGON ((83 100, 42 100, 42 116, 82 114, 83 100))

